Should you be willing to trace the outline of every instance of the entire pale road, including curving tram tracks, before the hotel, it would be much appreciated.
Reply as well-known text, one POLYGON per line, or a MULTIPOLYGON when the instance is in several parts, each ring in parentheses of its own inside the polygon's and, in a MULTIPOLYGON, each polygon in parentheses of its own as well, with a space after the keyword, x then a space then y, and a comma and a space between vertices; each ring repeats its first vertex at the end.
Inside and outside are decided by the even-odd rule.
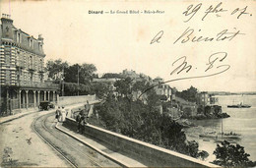
POLYGON ((44 130, 42 135, 63 150, 77 166, 120 167, 90 147, 57 131, 53 122, 54 111, 31 113, 0 125, 0 167, 71 167, 61 154, 38 137, 33 123, 39 127, 37 130, 44 130))

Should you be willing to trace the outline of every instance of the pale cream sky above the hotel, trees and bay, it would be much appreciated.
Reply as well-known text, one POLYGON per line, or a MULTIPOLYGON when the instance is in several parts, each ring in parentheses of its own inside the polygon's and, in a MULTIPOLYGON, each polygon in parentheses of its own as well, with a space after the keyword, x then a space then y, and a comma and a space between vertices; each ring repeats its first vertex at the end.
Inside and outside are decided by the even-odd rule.
POLYGON ((42 34, 45 62, 61 58, 70 64, 95 64, 98 74, 120 73, 128 69, 152 78, 160 77, 164 81, 208 76, 223 71, 228 65, 230 68, 227 71, 216 76, 168 84, 180 90, 193 85, 200 91, 256 91, 256 2, 224 1, 217 9, 220 11, 223 8, 225 12, 214 11, 202 21, 207 9, 220 3, 207 1, 186 22, 191 15, 185 16, 183 13, 190 5, 196 7, 200 3, 191 0, 2 0, 0 13, 10 14, 16 28, 34 37, 42 34), (245 7, 248 14, 237 19, 245 7), (238 10, 235 12, 235 9, 238 10), (89 14, 90 10, 103 11, 104 14, 89 14), (139 10, 140 14, 105 13, 110 13, 110 10, 116 13, 139 10), (145 14, 145 10, 163 13, 145 14), (189 36, 190 40, 182 43, 182 39, 187 38, 184 36, 174 43, 187 28, 194 30, 189 36), (226 36, 237 31, 242 34, 237 34, 231 40, 217 41, 217 34, 224 29, 227 29, 226 36), (163 33, 159 41, 151 44, 160 31, 163 33), (215 39, 191 42, 193 37, 200 36, 215 39), (191 70, 170 75, 182 64, 183 56, 186 56, 187 65, 192 66, 191 70), (216 58, 213 68, 206 72, 209 63, 216 58), (218 69, 222 65, 225 67, 218 69))

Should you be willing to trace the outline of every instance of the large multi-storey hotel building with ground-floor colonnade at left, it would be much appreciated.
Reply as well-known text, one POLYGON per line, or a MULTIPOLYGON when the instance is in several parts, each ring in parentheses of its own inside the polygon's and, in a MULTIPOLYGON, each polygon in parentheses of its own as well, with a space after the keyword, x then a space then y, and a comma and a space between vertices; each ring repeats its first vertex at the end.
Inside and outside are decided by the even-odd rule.
POLYGON ((59 85, 47 81, 43 38, 13 26, 3 14, 0 25, 0 115, 37 108, 40 101, 57 102, 59 85), (21 111, 21 110, 20 110, 21 111))

